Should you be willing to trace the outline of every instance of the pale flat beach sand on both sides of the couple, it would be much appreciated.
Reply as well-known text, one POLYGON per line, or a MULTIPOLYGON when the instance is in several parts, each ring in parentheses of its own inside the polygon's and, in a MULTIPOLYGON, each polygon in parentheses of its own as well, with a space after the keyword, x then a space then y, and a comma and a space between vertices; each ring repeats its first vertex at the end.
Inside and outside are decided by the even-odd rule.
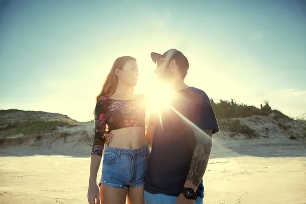
MULTIPOLYGON (((1 151, 0 203, 88 203, 89 157, 14 156, 16 150, 1 151)), ((305 204, 306 146, 220 135, 203 179, 205 203, 305 204)))

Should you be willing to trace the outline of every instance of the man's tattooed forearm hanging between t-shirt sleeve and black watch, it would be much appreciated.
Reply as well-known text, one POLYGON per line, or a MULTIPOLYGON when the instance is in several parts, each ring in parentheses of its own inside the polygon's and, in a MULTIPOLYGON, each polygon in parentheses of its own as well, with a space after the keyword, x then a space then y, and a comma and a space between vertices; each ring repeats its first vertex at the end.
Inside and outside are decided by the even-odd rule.
POLYGON ((194 131, 194 137, 196 139, 196 145, 193 151, 187 180, 198 187, 205 173, 212 149, 212 131, 194 131))

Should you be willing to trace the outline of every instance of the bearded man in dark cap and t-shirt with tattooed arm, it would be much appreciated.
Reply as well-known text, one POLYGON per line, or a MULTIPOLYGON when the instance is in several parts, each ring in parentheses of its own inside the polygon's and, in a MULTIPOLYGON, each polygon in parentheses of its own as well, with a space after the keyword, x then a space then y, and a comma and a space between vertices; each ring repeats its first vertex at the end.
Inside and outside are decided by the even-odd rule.
MULTIPOLYGON (((176 94, 168 107, 150 115, 146 136, 152 137, 152 149, 145 175, 145 204, 203 203, 202 177, 212 135, 219 131, 210 99, 184 83, 189 62, 183 53, 170 49, 163 55, 151 53, 151 58, 157 64, 158 79, 176 94)), ((150 138, 147 141, 150 145, 150 138)))

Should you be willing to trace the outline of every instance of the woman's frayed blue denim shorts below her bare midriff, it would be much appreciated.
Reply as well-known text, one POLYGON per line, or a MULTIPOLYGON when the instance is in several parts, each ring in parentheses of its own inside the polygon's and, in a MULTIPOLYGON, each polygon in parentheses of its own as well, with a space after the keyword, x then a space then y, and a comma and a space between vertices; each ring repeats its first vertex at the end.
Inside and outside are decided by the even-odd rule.
POLYGON ((138 149, 107 147, 100 183, 124 189, 143 186, 149 157, 148 145, 138 149))

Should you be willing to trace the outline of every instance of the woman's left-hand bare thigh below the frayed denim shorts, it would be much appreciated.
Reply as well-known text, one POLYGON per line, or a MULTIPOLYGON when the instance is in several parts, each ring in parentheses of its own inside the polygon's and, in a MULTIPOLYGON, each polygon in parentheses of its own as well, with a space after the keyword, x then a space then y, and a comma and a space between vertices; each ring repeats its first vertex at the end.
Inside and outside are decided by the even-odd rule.
POLYGON ((114 188, 101 184, 100 201, 101 204, 125 204, 126 189, 114 188))

